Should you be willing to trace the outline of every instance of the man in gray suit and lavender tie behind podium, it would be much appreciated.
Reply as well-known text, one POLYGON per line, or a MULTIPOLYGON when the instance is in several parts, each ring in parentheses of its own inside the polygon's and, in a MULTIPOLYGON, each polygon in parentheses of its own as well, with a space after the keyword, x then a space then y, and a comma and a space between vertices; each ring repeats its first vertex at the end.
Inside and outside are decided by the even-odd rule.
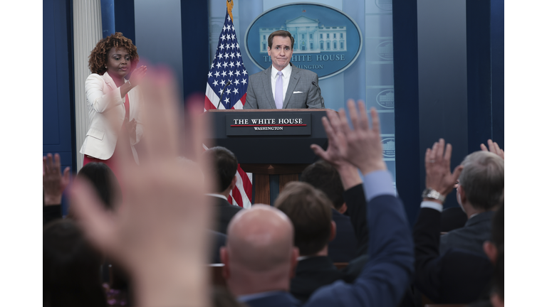
POLYGON ((271 66, 249 77, 244 109, 325 109, 317 74, 291 64, 293 45, 288 31, 270 34, 271 66))

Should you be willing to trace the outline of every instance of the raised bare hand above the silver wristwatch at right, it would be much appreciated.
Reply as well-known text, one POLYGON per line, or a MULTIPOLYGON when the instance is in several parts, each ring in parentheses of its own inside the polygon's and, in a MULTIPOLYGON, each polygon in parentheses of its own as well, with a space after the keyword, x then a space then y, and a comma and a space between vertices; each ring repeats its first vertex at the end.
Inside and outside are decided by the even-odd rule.
POLYGON ((433 144, 432 149, 425 151, 425 186, 432 188, 446 197, 456 184, 459 174, 464 169, 457 166, 454 173, 450 172, 450 157, 452 156, 452 145, 447 144, 444 148, 444 139, 439 139, 433 144))

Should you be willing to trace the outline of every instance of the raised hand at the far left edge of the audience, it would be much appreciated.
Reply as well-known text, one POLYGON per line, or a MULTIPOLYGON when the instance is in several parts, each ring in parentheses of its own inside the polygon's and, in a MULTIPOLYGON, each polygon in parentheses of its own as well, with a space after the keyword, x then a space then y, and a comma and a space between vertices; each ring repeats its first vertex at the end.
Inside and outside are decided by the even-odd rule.
POLYGON ((48 154, 42 158, 42 184, 44 205, 59 205, 63 197, 63 191, 71 181, 71 168, 68 166, 61 176, 61 156, 48 154))

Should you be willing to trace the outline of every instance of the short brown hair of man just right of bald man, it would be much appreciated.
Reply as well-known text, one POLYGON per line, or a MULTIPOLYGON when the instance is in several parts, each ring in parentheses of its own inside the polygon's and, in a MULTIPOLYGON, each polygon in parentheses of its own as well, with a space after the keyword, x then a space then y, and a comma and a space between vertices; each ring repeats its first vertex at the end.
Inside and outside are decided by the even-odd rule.
POLYGON ((301 256, 321 251, 330 238, 332 203, 327 196, 308 183, 287 183, 275 207, 285 213, 294 226, 294 245, 301 256))

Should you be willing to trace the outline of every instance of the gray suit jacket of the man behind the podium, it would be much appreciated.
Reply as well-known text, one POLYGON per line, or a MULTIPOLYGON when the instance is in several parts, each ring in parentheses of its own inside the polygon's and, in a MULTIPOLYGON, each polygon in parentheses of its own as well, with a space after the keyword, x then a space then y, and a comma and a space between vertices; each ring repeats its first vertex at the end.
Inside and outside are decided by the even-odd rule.
MULTIPOLYGON (((283 109, 325 109, 319 90, 319 78, 315 72, 293 66, 288 82, 283 109), (312 85, 311 82, 316 82, 312 85)), ((244 109, 277 109, 271 92, 271 65, 268 69, 249 76, 244 109)))

